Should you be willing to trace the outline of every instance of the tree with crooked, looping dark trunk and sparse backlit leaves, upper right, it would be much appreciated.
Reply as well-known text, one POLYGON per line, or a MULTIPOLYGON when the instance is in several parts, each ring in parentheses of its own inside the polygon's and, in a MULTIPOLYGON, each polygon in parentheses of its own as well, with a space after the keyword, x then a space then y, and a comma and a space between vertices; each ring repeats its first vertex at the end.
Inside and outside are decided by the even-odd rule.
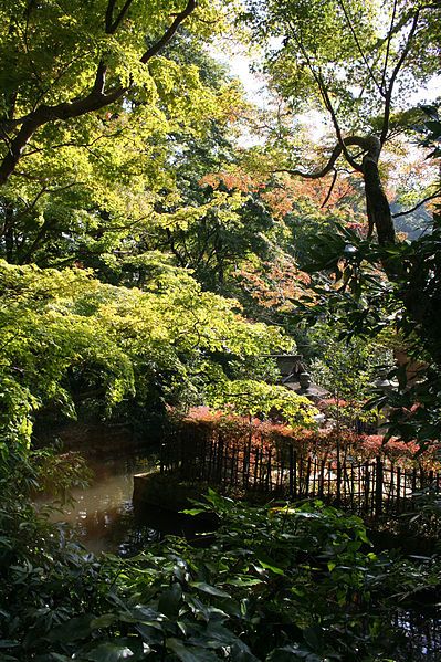
MULTIPOLYGON (((409 92, 438 71, 439 6, 287 0, 249 7, 245 19, 254 32, 282 41, 275 50, 267 46, 266 70, 274 87, 295 109, 312 104, 324 108, 336 138, 323 168, 280 169, 309 179, 333 172, 333 187, 343 158, 363 177, 369 234, 375 229, 380 244, 392 244, 396 232, 380 156, 387 141, 414 118, 409 92)), ((387 269, 395 267, 389 262, 387 269)))

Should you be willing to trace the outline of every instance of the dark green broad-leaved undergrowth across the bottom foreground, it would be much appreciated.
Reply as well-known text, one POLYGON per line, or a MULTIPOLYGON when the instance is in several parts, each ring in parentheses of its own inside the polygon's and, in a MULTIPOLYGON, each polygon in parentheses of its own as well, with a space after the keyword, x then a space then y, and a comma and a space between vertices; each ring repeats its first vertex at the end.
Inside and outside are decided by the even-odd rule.
POLYGON ((1 566, 6 659, 409 659, 397 601, 434 591, 435 563, 377 556, 360 519, 319 503, 206 500, 191 514, 218 514, 210 547, 169 538, 125 560, 60 550, 28 518, 1 566))

